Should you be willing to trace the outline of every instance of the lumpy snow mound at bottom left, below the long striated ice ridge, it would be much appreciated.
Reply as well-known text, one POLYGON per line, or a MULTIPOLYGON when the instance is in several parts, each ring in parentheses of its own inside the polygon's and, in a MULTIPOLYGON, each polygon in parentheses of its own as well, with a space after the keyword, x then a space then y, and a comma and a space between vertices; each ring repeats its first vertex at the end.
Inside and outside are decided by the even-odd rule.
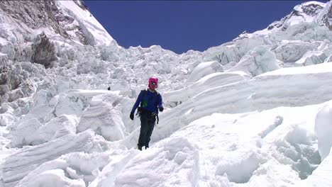
POLYGON ((50 185, 48 176, 53 178, 52 186, 87 186, 94 181, 96 176, 101 172, 111 159, 111 152, 105 153, 82 153, 73 152, 64 154, 61 157, 45 162, 38 168, 31 171, 16 186, 35 186, 50 185), (53 173, 53 171, 57 171, 53 173), (63 175, 65 174, 65 175, 63 175), (38 179, 36 180, 36 176, 38 179), (41 177, 43 176, 43 177, 41 177))

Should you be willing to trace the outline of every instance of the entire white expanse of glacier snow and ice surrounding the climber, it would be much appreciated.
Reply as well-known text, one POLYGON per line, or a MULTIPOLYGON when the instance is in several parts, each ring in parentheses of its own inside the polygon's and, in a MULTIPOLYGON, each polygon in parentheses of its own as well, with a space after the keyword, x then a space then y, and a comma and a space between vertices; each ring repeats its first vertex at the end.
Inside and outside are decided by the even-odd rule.
MULTIPOLYGON (((297 8, 315 5, 331 2, 297 8)), ((308 18, 264 32, 181 55, 53 40, 49 69, 0 40, 0 186, 331 187, 331 30, 308 18), (140 152, 129 113, 152 76, 165 111, 140 152)))

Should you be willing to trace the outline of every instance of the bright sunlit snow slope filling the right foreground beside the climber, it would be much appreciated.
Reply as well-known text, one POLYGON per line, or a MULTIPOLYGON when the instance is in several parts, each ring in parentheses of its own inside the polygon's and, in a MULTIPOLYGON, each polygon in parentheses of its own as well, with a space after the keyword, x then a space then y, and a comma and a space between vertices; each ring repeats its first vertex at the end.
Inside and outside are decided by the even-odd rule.
POLYGON ((150 149, 128 150, 92 186, 297 185, 321 162, 314 120, 323 105, 199 118, 150 149))

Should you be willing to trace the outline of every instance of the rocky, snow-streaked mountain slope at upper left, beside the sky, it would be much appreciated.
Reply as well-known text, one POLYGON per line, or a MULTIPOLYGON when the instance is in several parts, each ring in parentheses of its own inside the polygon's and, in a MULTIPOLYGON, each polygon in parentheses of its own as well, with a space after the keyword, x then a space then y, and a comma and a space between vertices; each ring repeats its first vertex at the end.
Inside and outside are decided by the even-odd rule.
POLYGON ((86 45, 109 45, 113 40, 80 0, 2 1, 0 13, 1 38, 13 45, 31 42, 41 32, 86 45))

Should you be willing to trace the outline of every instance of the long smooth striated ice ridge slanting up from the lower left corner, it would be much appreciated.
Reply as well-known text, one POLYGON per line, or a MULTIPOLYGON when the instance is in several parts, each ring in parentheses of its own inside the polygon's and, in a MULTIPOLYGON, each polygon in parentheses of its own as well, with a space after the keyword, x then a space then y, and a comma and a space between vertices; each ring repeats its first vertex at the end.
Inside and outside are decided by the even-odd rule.
POLYGON ((92 148, 93 133, 85 131, 77 135, 65 135, 59 139, 47 142, 12 154, 1 166, 4 186, 15 186, 29 172, 40 164, 60 157, 70 152, 87 152, 92 148))

